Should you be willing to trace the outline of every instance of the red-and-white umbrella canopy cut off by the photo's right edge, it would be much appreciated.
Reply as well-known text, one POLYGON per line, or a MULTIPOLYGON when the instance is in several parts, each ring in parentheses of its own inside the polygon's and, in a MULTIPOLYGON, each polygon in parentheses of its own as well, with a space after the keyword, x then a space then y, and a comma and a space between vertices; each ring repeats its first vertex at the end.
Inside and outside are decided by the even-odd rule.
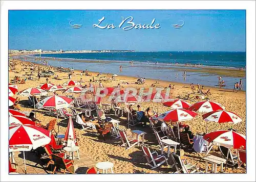
POLYGON ((210 132, 204 136, 204 140, 234 149, 246 148, 246 138, 244 135, 229 130, 219 130, 216 132, 210 132))

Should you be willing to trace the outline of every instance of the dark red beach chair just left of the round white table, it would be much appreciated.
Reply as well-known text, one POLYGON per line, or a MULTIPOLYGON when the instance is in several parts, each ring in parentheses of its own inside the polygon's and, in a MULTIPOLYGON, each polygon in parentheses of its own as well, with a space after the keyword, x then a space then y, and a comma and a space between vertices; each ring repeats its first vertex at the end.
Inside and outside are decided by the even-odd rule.
POLYGON ((63 159, 62 157, 60 157, 56 154, 52 154, 52 160, 54 162, 53 174, 55 173, 56 168, 64 169, 63 174, 65 174, 67 170, 72 174, 74 173, 74 161, 73 160, 63 159))

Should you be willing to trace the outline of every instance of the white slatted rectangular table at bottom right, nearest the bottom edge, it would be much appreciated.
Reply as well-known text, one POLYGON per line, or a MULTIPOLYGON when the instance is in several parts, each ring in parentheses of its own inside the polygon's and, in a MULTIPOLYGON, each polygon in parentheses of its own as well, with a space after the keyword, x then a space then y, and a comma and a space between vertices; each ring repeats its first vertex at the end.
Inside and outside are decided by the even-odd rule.
POLYGON ((205 173, 208 172, 208 163, 212 165, 211 172, 217 173, 217 165, 221 165, 221 171, 223 171, 223 164, 226 163, 226 160, 223 158, 219 158, 215 155, 208 155, 204 158, 202 158, 205 161, 205 173))

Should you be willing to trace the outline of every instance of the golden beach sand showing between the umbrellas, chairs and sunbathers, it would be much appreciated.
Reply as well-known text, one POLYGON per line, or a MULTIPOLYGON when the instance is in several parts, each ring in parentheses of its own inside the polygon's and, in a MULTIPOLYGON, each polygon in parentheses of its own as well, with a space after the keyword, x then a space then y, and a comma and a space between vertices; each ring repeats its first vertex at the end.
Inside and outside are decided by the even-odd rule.
MULTIPOLYGON (((15 66, 15 70, 9 70, 9 83, 13 79, 13 77, 20 76, 21 79, 28 77, 25 75, 26 71, 22 71, 22 65, 28 64, 28 62, 20 62, 19 60, 15 60, 18 65, 15 66)), ((40 65, 41 67, 46 67, 43 65, 40 65)), ((209 71, 209 70, 207 70, 209 71)), ((30 72, 29 70, 27 72, 30 72)), ((64 72, 57 72, 54 70, 55 75, 58 75, 58 77, 62 80, 55 80, 53 76, 49 77, 49 82, 55 85, 62 85, 64 82, 69 80, 68 73, 64 72)), ((89 74, 92 74, 92 76, 84 76, 80 75, 81 70, 75 70, 74 75, 72 75, 72 80, 79 81, 82 79, 84 82, 82 85, 87 84, 89 85, 90 79, 94 76, 95 81, 99 80, 99 76, 97 76, 98 72, 90 72, 89 74)), ((18 90, 24 90, 29 87, 37 87, 40 84, 46 83, 46 77, 40 77, 40 80, 38 81, 37 72, 33 73, 34 75, 33 80, 27 80, 25 84, 18 84, 18 90)), ((234 73, 237 75, 237 73, 234 73)), ((101 77, 108 77, 107 74, 101 74, 101 77)), ((111 75, 109 75, 111 77, 111 75)), ((116 87, 118 84, 121 85, 122 88, 125 87, 133 87, 133 88, 141 88, 144 87, 145 89, 148 89, 151 87, 152 84, 156 87, 168 87, 169 84, 172 86, 175 84, 175 89, 172 89, 170 96, 172 98, 180 98, 184 97, 186 94, 191 93, 191 89, 189 84, 181 84, 181 83, 175 83, 175 82, 167 82, 167 81, 160 81, 160 80, 151 80, 147 79, 144 85, 138 85, 135 84, 138 78, 131 77, 131 76, 121 76, 118 75, 115 81, 103 81, 104 87, 116 87), (127 82, 129 84, 122 84, 122 82, 127 82), (157 83, 158 82, 158 83, 157 83)), ((196 83, 194 83, 196 84, 196 83)), ((99 83, 96 82, 95 85, 98 87, 99 83)), ((208 122, 208 132, 216 131, 217 129, 228 129, 230 127, 237 130, 237 132, 246 135, 246 92, 245 91, 239 91, 238 93, 233 92, 233 90, 230 89, 224 89, 224 88, 212 88, 205 86, 203 91, 206 92, 208 89, 210 89, 211 95, 210 100, 216 101, 221 103, 227 111, 232 111, 236 114, 238 114, 242 118, 242 122, 232 125, 232 124, 218 124, 214 122, 208 122)), ((61 93, 60 91, 57 91, 57 93, 61 93)), ((16 97, 14 95, 13 97, 16 97)), ((20 104, 23 106, 23 103, 25 103, 28 98, 27 97, 21 97, 20 98, 20 104)), ((103 102, 106 100, 103 99, 103 102)), ((189 103, 193 104, 196 101, 188 101, 189 103)), ((162 103, 156 103, 156 102, 142 102, 139 103, 139 105, 142 107, 143 110, 145 110, 148 107, 153 107, 155 111, 158 113, 162 113, 165 111, 168 111, 168 107, 164 107, 162 103)), ((136 106, 134 106, 134 109, 136 109, 136 106)), ((34 110, 33 108, 25 108, 22 107, 21 111, 30 112, 34 110)), ((114 116, 111 115, 111 117, 114 118, 114 116)), ((36 118, 39 119, 43 125, 46 125, 52 117, 45 116, 44 112, 41 112, 40 110, 36 110, 36 118)), ((120 118, 120 127, 121 128, 127 128, 126 122, 124 117, 120 118)), ((59 126, 59 134, 65 134, 68 120, 63 120, 59 126)), ((75 122, 74 122, 75 123, 75 122)), ((202 119, 201 114, 196 116, 193 120, 185 121, 186 124, 190 126, 191 131, 194 134, 197 133, 204 133, 205 132, 205 121, 202 119)), ((145 131, 147 134, 145 136, 146 144, 150 143, 152 150, 157 148, 157 141, 156 138, 149 126, 146 127, 140 127, 140 126, 134 126, 132 128, 141 129, 145 131)), ((125 150, 124 147, 121 147, 121 140, 114 139, 114 138, 108 138, 106 141, 104 141, 101 138, 98 138, 98 134, 95 132, 92 132, 91 130, 82 131, 79 126, 75 127, 75 131, 78 133, 78 136, 80 138, 79 147, 80 150, 88 155, 88 157, 94 159, 96 162, 101 161, 109 161, 114 163, 114 172, 115 173, 133 173, 133 172, 145 172, 145 173, 173 173, 175 170, 174 168, 167 168, 166 166, 161 166, 155 170, 151 170, 149 166, 146 166, 146 159, 143 157, 143 152, 139 147, 133 147, 130 150, 125 150)), ((185 155, 182 156, 182 159, 187 159, 188 162, 192 164, 196 164, 200 170, 204 171, 205 163, 201 159, 201 157, 204 157, 205 154, 203 153, 196 153, 196 152, 187 152, 185 151, 185 155)), ((219 169, 219 166, 218 166, 219 169)), ((244 168, 230 168, 227 167, 226 169, 227 173, 245 173, 246 170, 244 168)))

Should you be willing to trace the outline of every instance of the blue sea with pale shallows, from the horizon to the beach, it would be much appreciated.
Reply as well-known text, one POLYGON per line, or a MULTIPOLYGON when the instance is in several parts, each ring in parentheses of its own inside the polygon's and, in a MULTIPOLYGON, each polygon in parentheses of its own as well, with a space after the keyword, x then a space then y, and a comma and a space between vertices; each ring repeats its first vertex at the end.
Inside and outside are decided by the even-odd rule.
MULTIPOLYGON (((218 77, 214 73, 200 72, 196 69, 209 67, 216 69, 246 68, 246 52, 232 51, 148 51, 148 52, 111 52, 111 53, 61 53, 22 55, 14 58, 38 63, 46 60, 49 65, 63 66, 78 70, 89 70, 101 73, 145 77, 179 83, 194 83, 218 87, 218 77), (132 63, 132 64, 131 64, 132 63), (189 64, 189 67, 184 67, 189 64), (119 67, 122 66, 122 72, 119 67), (194 66, 196 65, 196 66, 194 66), (184 76, 184 71, 186 76, 184 76), (195 71, 193 71, 193 69, 195 71)), ((246 77, 222 75, 225 87, 233 89, 234 83, 243 80, 246 88, 246 77)))

